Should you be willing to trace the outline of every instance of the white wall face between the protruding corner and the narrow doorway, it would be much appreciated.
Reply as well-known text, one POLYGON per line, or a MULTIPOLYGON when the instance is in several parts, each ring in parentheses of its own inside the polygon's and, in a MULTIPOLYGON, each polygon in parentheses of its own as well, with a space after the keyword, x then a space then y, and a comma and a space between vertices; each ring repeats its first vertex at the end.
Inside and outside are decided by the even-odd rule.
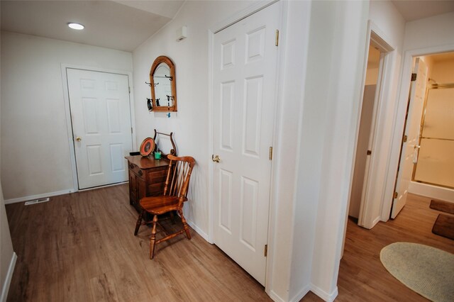
MULTIPOLYGON (((326 301, 337 295, 338 268, 341 260, 343 230, 350 197, 350 181, 353 177, 353 157, 356 129, 359 123, 362 72, 368 49, 367 1, 314 1, 312 10, 309 62, 317 62, 309 69, 305 93, 306 103, 314 106, 308 114, 311 123, 304 128, 309 138, 316 140, 316 147, 305 147, 307 167, 299 167, 301 174, 310 179, 320 175, 318 208, 316 212, 314 259, 312 262, 312 291, 326 301), (328 40, 324 53, 313 45, 314 40, 328 40), (309 77, 309 74, 311 75, 309 77), (324 78, 322 82, 321 79, 324 78), (313 89, 309 89, 313 86, 313 89), (319 121, 316 121, 316 119, 319 121), (321 133, 318 128, 322 128, 321 133), (324 128, 324 129, 323 129, 324 128), (314 131, 315 130, 315 131, 314 131), (311 134, 311 132, 314 132, 311 134), (321 138, 314 138, 321 135, 321 138), (321 167, 311 167, 309 161, 319 158, 321 167)), ((301 142, 301 145, 307 145, 301 142)), ((319 165, 319 164, 317 164, 319 165)), ((308 188, 308 190, 310 190, 308 188)), ((316 197, 316 196, 314 196, 316 197)))

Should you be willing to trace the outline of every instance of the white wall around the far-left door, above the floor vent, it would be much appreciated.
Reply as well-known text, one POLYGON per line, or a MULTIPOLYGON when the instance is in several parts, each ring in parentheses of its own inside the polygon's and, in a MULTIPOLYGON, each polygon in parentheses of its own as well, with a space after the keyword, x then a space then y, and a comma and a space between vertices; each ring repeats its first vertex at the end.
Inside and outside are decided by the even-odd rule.
POLYGON ((6 202, 73 189, 62 64, 132 72, 132 54, 1 32, 1 184, 6 202))

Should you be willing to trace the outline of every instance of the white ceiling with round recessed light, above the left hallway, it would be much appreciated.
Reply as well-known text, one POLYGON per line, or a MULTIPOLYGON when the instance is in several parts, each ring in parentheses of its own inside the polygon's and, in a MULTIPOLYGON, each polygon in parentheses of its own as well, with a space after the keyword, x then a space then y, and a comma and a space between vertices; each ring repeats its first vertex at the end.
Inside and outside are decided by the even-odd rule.
POLYGON ((132 52, 184 1, 1 1, 1 30, 132 52), (68 22, 82 23, 72 30, 68 22))

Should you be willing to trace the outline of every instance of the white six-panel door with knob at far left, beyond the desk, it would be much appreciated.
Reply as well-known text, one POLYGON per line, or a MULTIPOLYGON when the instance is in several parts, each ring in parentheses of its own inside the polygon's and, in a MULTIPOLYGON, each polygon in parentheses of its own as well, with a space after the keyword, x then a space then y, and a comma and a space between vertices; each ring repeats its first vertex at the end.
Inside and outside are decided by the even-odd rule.
POLYGON ((79 189, 128 180, 133 149, 128 76, 67 68, 79 189))

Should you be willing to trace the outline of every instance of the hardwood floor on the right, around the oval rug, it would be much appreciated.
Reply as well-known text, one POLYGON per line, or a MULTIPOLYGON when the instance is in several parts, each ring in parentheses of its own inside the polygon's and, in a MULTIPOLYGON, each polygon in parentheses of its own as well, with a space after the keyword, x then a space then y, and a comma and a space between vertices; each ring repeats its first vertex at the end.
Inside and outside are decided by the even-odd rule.
MULTIPOLYGON (((348 220, 336 301, 428 301, 384 269, 380 250, 393 242, 416 242, 454 253, 454 240, 431 231, 441 212, 429 208, 430 203, 430 198, 409 194, 396 219, 377 223, 372 230, 348 220)), ((309 292, 301 301, 323 300, 309 292)))

